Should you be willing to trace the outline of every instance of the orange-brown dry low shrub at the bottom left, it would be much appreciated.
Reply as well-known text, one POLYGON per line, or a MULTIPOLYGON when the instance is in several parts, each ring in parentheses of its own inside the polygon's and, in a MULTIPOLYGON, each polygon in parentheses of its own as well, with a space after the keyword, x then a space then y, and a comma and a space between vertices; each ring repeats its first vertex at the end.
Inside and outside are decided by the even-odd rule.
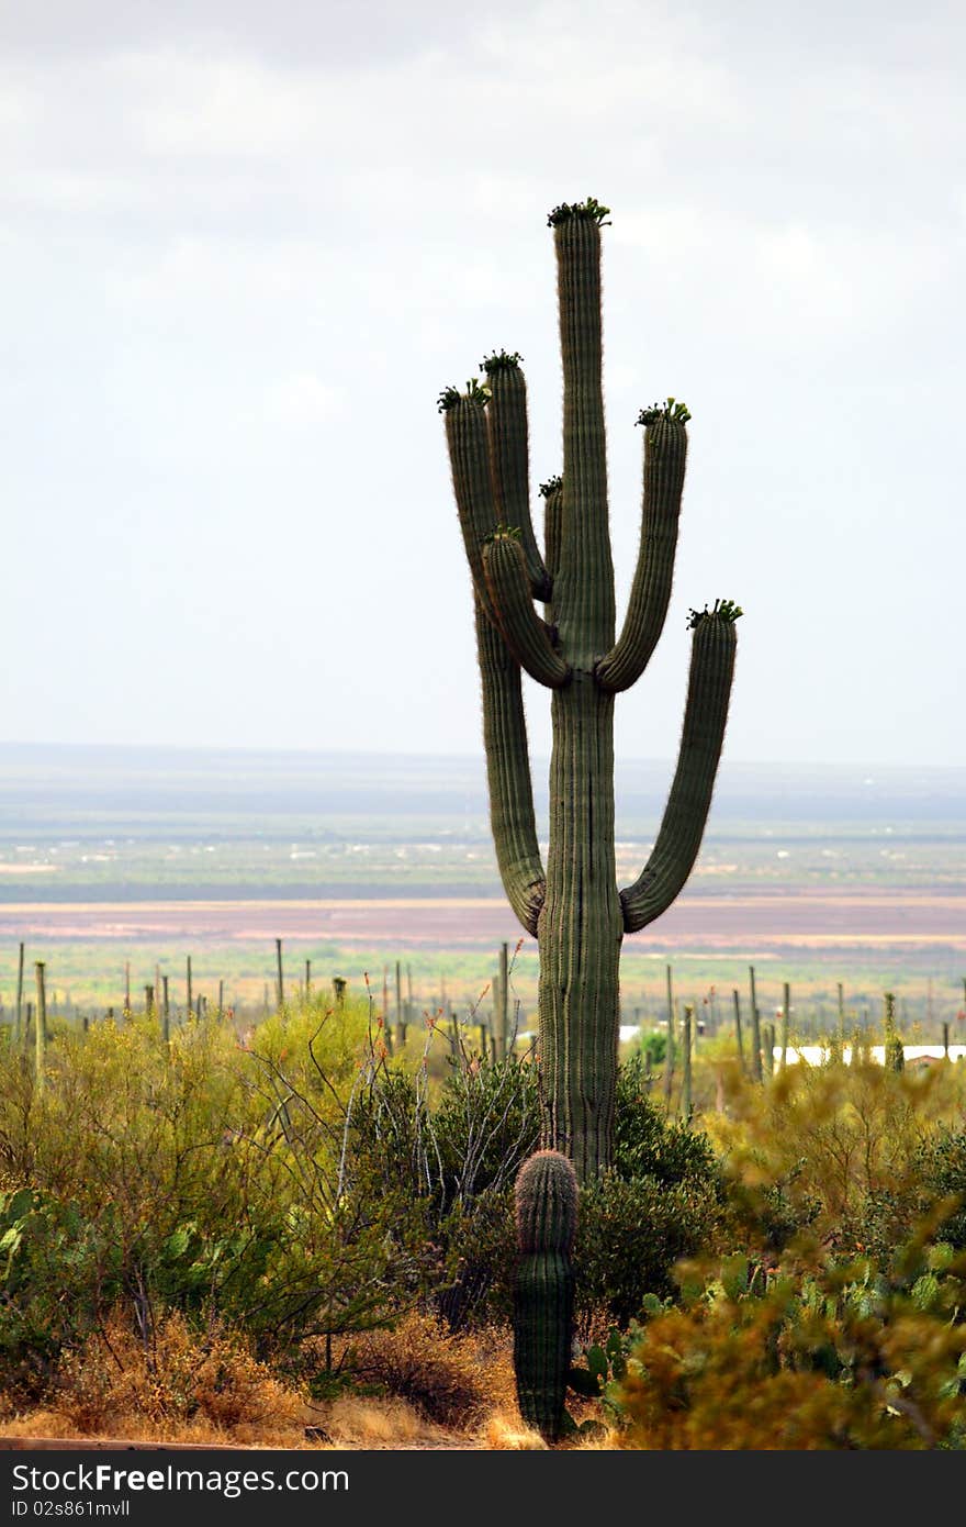
POLYGON ((125 1312, 64 1354, 56 1409, 84 1432, 122 1429, 131 1419, 153 1423, 208 1422, 240 1426, 298 1423, 302 1397, 258 1362, 237 1335, 198 1332, 185 1316, 163 1316, 143 1341, 125 1312))

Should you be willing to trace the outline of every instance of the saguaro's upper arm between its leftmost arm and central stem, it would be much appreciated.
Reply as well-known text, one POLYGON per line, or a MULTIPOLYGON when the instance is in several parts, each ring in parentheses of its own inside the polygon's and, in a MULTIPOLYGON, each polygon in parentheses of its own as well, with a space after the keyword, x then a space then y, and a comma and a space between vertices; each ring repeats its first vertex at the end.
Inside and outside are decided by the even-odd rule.
POLYGON ((526 379, 519 362, 519 356, 508 356, 501 350, 496 356, 487 356, 481 366, 490 388, 487 429, 493 499, 497 519, 520 527, 530 592, 534 599, 548 600, 551 580, 530 518, 526 379))

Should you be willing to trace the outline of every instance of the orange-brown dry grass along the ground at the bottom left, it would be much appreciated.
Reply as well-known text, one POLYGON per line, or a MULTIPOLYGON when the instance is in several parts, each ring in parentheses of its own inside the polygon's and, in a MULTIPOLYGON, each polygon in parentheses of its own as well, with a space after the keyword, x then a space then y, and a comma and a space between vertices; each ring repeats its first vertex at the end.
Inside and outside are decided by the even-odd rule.
MULTIPOLYGON (((61 1364, 46 1406, 8 1417, 12 1437, 125 1438, 252 1448, 545 1451, 516 1403, 508 1330, 452 1336, 426 1315, 353 1342, 353 1371, 378 1387, 308 1402, 224 1333, 198 1338, 168 1315, 148 1348, 116 1315, 61 1364), (305 1428, 317 1428, 307 1438, 305 1428)), ((577 1420, 592 1403, 571 1406, 577 1420)), ((574 1438, 563 1448, 613 1446, 574 1438)))

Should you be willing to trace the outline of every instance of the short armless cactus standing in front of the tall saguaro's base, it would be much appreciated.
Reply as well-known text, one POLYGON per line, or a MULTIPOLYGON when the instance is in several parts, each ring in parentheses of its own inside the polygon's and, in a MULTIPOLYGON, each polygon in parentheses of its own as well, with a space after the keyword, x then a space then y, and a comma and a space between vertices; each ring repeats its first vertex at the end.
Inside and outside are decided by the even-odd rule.
POLYGON ((517 1270, 513 1367, 523 1420, 548 1441, 565 1426, 574 1336, 577 1177, 566 1156, 537 1151, 516 1186, 517 1270))

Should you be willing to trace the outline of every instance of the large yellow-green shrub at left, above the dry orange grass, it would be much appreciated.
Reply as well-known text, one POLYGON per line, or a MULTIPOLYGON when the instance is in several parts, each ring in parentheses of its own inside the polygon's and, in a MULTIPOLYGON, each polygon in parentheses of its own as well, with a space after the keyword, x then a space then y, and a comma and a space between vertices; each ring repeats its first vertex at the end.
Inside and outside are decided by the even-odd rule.
POLYGON ((8 1243, 8 1377, 27 1351, 49 1371, 118 1299, 145 1333, 180 1309, 230 1319, 262 1350, 319 1319, 357 1330, 389 1318, 407 1205, 400 1194, 366 1202, 342 1180, 359 1057, 346 1077, 348 1040, 330 1043, 325 1025, 305 1038, 301 1022, 275 1023, 252 1052, 214 1023, 185 1025, 169 1046, 154 1023, 99 1023, 52 1046, 43 1090, 21 1057, 3 1058, 0 1170, 11 1191, 38 1196, 8 1243), (273 1060, 285 1032, 311 1095, 273 1060))

